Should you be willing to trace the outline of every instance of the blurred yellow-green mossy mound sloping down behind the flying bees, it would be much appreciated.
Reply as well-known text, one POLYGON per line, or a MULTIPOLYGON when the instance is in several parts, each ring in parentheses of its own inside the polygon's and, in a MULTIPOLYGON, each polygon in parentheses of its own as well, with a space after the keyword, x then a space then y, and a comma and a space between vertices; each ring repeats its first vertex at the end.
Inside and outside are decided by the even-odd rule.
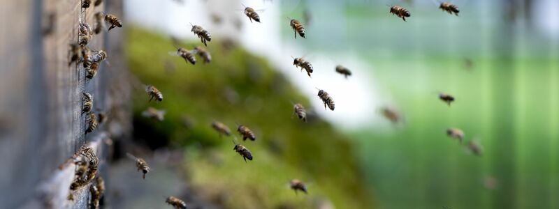
MULTIPOLYGON (((126 53, 129 68, 143 84, 164 94, 163 102, 147 102, 141 85, 134 92, 136 138, 151 146, 170 141, 187 147, 186 169, 191 184, 227 208, 312 208, 327 199, 337 208, 370 208, 372 201, 349 141, 317 116, 309 123, 292 117, 293 102, 309 104, 264 60, 234 48, 226 52, 219 39, 208 43, 212 63, 184 62, 170 39, 130 29, 126 53), (176 66, 165 70, 165 62, 176 66), (147 107, 167 111, 157 122, 144 118, 147 107), (184 116, 193 126, 184 127, 184 116), (245 163, 233 151, 233 137, 219 137, 210 124, 222 121, 233 131, 247 125, 256 141, 240 141, 254 156, 245 163), (160 141, 161 143, 159 143, 160 141), (287 183, 299 178, 310 194, 296 195, 287 183)), ((184 44, 191 49, 200 42, 184 44)))

